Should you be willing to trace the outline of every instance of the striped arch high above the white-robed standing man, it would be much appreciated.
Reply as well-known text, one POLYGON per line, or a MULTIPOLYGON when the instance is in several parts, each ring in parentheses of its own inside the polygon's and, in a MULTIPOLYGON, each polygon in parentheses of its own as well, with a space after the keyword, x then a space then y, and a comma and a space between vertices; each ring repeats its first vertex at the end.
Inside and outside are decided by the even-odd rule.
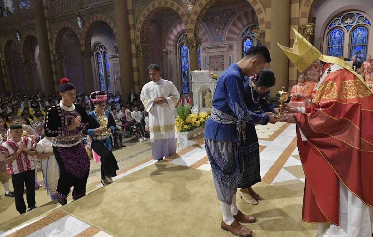
POLYGON ((145 9, 140 13, 140 17, 137 20, 136 27, 135 27, 135 43, 145 43, 145 33, 148 26, 148 21, 153 14, 157 12, 157 9, 161 7, 167 7, 173 9, 175 12, 179 14, 182 21, 185 25, 188 23, 188 14, 185 12, 183 6, 180 5, 179 2, 169 0, 157 0, 152 1, 148 4, 145 9))

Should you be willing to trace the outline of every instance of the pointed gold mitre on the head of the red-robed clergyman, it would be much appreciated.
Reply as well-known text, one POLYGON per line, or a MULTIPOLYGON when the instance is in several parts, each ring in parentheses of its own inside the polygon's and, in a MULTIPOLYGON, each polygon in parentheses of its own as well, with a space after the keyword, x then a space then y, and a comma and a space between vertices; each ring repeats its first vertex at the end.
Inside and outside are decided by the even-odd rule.
POLYGON ((297 30, 294 30, 295 41, 293 48, 285 47, 277 43, 298 71, 303 72, 322 56, 310 42, 307 41, 297 30))

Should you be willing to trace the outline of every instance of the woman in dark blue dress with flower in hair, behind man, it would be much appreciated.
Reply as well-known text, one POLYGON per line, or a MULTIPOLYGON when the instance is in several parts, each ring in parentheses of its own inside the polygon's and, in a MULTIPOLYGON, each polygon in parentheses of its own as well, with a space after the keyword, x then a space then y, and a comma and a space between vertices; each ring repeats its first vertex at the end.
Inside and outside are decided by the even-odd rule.
MULTIPOLYGON (((269 69, 261 69, 258 75, 250 77, 244 85, 244 100, 250 111, 266 115, 279 112, 270 99, 270 88, 275 85, 275 81, 275 74, 269 69)), ((259 204, 257 200, 261 198, 251 186, 261 181, 258 136, 253 123, 242 124, 244 124, 242 133, 245 133, 245 139, 241 140, 241 153, 245 162, 244 173, 238 185, 241 188, 239 195, 248 204, 257 205, 259 204)))

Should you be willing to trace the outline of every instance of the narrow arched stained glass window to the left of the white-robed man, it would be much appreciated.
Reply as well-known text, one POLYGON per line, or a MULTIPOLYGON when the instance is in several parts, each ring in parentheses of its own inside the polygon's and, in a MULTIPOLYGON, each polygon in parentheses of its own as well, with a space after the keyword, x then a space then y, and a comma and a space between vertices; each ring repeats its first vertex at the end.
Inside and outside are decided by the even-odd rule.
POLYGON ((112 91, 109 54, 107 53, 105 45, 103 45, 102 43, 98 44, 96 46, 95 53, 101 91, 112 91))

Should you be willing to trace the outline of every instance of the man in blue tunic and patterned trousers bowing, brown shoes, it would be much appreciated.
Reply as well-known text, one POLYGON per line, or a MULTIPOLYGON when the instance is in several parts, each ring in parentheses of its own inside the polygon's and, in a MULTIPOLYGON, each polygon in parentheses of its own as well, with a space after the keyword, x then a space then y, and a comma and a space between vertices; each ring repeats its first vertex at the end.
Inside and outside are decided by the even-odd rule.
POLYGON ((221 227, 236 236, 251 236, 253 231, 241 223, 255 222, 255 217, 243 214, 236 206, 236 191, 242 177, 244 160, 240 155, 241 122, 276 123, 274 114, 251 112, 244 102, 245 75, 257 74, 271 61, 268 49, 258 45, 248 49, 244 58, 230 65, 217 79, 212 100, 211 117, 206 121, 205 144, 209 157, 217 198, 223 212, 221 227))

